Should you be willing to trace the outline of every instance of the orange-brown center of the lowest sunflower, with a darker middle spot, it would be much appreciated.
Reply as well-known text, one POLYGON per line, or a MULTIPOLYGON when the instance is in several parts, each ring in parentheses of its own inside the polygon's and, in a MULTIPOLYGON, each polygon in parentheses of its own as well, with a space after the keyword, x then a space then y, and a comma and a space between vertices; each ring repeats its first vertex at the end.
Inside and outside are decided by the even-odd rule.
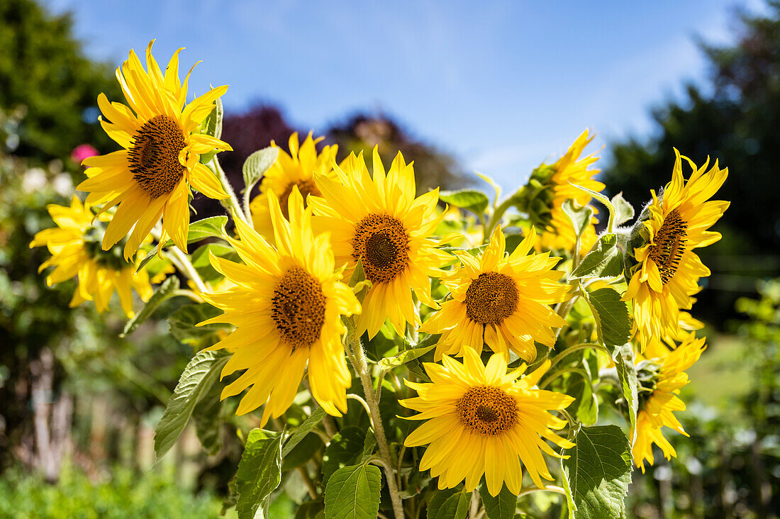
POLYGON ((456 407, 460 423, 477 434, 500 435, 517 423, 516 400, 497 387, 473 387, 456 407))

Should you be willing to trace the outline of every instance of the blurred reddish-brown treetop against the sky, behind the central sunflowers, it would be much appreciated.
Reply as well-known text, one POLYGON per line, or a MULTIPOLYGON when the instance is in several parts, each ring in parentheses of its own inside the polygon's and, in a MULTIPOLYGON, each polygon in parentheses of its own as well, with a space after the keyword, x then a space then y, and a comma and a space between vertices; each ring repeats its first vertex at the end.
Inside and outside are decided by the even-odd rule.
MULTIPOLYGON (((359 113, 346 123, 332 126, 327 133, 328 142, 339 144, 338 161, 349 153, 357 155, 361 151, 371 157, 371 151, 377 146, 382 162, 389 165, 400 151, 406 162, 414 161, 418 195, 436 187, 454 190, 473 183, 472 177, 466 176, 455 158, 414 139, 388 116, 359 113)), ((367 162, 371 164, 371 160, 367 162)))

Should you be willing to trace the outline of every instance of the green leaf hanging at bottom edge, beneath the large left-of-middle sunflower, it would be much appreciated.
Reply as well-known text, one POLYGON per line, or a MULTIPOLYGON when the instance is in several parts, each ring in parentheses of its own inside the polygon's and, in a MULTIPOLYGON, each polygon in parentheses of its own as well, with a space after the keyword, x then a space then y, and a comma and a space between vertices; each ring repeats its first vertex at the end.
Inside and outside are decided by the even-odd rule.
POLYGON ((268 517, 271 492, 282 481, 282 433, 254 428, 246 437, 236 472, 239 519, 268 517))

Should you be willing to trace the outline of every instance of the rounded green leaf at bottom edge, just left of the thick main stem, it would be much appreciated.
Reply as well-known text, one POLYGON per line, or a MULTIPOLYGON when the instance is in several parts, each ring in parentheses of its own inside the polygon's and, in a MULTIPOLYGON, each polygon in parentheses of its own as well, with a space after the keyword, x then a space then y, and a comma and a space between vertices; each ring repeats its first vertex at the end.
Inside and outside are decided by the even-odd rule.
POLYGON ((374 465, 339 468, 325 486, 325 519, 376 519, 381 472, 374 465))

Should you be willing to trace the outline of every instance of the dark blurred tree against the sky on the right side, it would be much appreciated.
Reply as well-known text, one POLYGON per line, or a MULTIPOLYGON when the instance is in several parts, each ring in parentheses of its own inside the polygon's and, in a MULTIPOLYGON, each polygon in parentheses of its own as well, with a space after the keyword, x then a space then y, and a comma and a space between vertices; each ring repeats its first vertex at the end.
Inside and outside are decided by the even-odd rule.
POLYGON ((780 272, 780 205, 776 203, 780 162, 780 2, 769 3, 768 16, 742 16, 739 41, 728 47, 704 45, 711 84, 687 87, 687 98, 657 108, 657 128, 649 140, 629 139, 612 145, 608 185, 620 186, 640 207, 647 186, 661 187, 674 163, 673 147, 694 162, 707 155, 729 167, 723 197, 732 201, 715 230, 723 240, 702 249, 712 269, 697 309, 711 322, 733 315, 740 293, 753 293, 753 280, 780 272), (711 93, 710 93, 711 92, 711 93), (750 257, 750 261, 745 261, 750 257))

